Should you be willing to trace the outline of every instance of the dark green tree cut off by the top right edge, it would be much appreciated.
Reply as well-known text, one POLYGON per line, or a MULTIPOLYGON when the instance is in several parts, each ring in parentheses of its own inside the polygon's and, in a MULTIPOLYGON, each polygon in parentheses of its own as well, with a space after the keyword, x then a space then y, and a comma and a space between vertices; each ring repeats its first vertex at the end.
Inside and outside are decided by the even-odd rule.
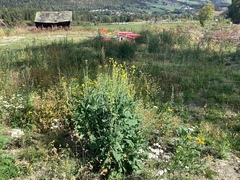
POLYGON ((232 0, 232 4, 228 7, 228 17, 233 23, 240 22, 240 1, 232 0))

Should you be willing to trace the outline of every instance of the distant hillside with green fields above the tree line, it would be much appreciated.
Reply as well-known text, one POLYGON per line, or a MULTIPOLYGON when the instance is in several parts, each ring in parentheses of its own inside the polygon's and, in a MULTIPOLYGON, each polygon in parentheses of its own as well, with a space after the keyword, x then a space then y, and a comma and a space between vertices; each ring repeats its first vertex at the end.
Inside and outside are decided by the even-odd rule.
MULTIPOLYGON (((217 9, 227 7, 231 0, 209 0, 217 9)), ((89 11, 97 9, 135 13, 163 13, 195 11, 206 0, 2 0, 0 7, 31 8, 40 10, 89 11)))

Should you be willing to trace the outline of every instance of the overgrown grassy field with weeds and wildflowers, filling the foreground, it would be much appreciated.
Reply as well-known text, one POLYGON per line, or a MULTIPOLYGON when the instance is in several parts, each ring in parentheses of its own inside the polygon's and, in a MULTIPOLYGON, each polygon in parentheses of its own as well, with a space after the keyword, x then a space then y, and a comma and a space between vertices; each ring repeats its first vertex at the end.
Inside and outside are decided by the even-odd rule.
POLYGON ((240 28, 137 27, 0 29, 0 179, 214 179, 239 157, 240 28))

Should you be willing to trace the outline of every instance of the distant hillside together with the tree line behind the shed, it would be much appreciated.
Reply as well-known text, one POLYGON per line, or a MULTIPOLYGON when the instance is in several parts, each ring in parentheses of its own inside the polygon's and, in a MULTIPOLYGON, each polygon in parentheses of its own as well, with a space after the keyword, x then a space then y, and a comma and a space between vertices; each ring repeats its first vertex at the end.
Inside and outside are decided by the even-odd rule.
MULTIPOLYGON (((214 4, 217 11, 225 11, 231 1, 214 0, 208 1, 214 4)), ((73 23, 115 23, 131 21, 174 21, 197 19, 199 10, 206 1, 162 1, 162 0, 121 0, 121 1, 6 1, 0 2, 0 19, 3 19, 8 26, 13 25, 34 25, 36 11, 73 11, 73 23), (59 6, 61 4, 61 6, 59 6)), ((236 3, 236 2, 234 2, 236 3)), ((234 10, 238 6, 230 6, 234 10)), ((238 8, 237 8, 238 9, 238 8)), ((230 17, 234 15, 230 13, 230 17)))

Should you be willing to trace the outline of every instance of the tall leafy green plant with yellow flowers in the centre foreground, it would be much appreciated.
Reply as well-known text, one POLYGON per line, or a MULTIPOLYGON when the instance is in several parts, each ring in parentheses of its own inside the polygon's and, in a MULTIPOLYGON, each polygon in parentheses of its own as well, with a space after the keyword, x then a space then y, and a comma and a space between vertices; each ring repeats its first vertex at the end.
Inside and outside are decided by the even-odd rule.
POLYGON ((101 175, 132 174, 141 169, 145 145, 141 117, 134 99, 134 67, 110 63, 100 67, 96 80, 85 74, 76 102, 76 129, 85 141, 90 165, 101 175))

